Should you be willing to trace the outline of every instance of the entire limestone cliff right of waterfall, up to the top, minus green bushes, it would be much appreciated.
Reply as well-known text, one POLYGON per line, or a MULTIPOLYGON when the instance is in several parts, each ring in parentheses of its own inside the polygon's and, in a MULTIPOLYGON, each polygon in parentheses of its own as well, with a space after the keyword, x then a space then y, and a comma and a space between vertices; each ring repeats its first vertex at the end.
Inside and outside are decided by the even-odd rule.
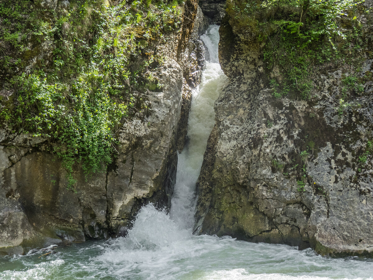
MULTIPOLYGON (((220 27, 220 63, 230 82, 215 103, 216 124, 197 183, 196 232, 372 256, 371 3, 360 4, 354 18, 365 44, 355 53, 358 67, 320 63, 309 95, 301 98, 283 82, 283 68, 266 64, 266 46, 278 33, 259 36, 269 19, 289 18, 281 18, 282 7, 276 13, 264 4, 263 13, 244 18, 244 8, 262 3, 242 7, 249 2, 227 1, 220 27)), ((298 34, 306 2, 290 15, 301 15, 291 18, 298 34)), ((354 51, 348 44, 347 57, 354 51)))

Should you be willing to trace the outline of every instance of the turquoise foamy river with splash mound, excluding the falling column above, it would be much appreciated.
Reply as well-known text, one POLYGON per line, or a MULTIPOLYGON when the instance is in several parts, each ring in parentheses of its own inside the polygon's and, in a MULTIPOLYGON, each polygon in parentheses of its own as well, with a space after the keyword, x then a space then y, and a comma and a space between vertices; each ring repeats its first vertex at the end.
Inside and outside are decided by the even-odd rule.
POLYGON ((372 259, 333 259, 287 245, 192 236, 153 205, 142 209, 138 221, 126 238, 61 247, 41 258, 45 252, 3 257, 0 279, 372 279, 372 259), (147 231, 149 224, 153 232, 147 231), (168 233, 158 235, 165 225, 168 233))

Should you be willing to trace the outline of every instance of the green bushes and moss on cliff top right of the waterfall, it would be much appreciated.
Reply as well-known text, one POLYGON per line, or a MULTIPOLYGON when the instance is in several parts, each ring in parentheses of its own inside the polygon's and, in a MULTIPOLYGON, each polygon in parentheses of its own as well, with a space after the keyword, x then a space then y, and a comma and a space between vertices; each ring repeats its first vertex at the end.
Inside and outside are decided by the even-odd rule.
POLYGON ((308 99, 319 69, 352 63, 364 49, 357 18, 362 2, 244 0, 229 1, 227 10, 236 29, 254 31, 254 40, 265 44, 267 73, 276 78, 269 79, 273 95, 308 99))

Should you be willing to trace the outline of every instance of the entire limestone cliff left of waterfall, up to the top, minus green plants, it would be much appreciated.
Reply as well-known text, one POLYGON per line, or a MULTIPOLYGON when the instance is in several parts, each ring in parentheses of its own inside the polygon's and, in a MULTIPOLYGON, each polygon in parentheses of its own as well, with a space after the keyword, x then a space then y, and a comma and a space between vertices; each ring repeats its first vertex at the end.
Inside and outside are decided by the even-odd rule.
MULTIPOLYGON (((58 14, 59 9, 76 12, 73 3, 75 1, 33 1, 31 8, 52 11, 46 15, 48 17, 58 14)), ((132 3, 132 7, 131 3, 123 3, 129 5, 130 11, 137 12, 135 5, 138 3, 132 3)), ((123 9, 120 6, 123 3, 103 1, 103 7, 119 5, 119 9, 123 9)), ((196 1, 188 0, 176 8, 167 8, 176 9, 181 23, 176 29, 175 24, 171 32, 151 38, 150 47, 141 45, 149 37, 136 39, 142 53, 132 57, 133 71, 138 71, 138 65, 147 57, 163 55, 162 64, 149 67, 146 74, 155 77, 151 81, 155 81, 156 86, 150 84, 148 89, 135 95, 138 100, 141 98, 141 108, 145 109, 123 118, 122 125, 116 127, 117 139, 113 142, 116 155, 108 166, 103 165, 103 170, 88 175, 79 161, 72 166, 73 189, 67 188, 70 182, 66 164, 52 152, 55 147, 61 147, 58 141, 18 132, 6 122, 1 125, 0 253, 21 254, 30 247, 123 235, 142 205, 148 202, 158 207, 169 205, 176 175, 177 144, 182 147, 186 135, 183 131, 190 107, 188 98, 190 102, 190 91, 198 83, 204 67, 203 46, 198 40, 199 26, 194 23, 197 7, 196 1)), ((87 10, 83 9, 83 12, 87 10)), ((76 13, 79 16, 79 10, 76 13)), ((200 10, 198 14, 201 16, 200 10)), ((144 28, 140 13, 137 15, 140 28, 144 28)), ((53 18, 48 21, 54 23, 53 18)), ((72 26, 65 22, 61 28, 67 38, 72 26)), ((4 41, 0 43, 5 44, 4 41)), ((41 53, 25 58, 31 64, 22 61, 22 65, 26 65, 22 70, 27 73, 32 73, 33 67, 40 62, 48 64, 51 57, 47 54, 52 56, 56 52, 55 45, 38 40, 33 44, 29 43, 26 52, 30 55, 37 51, 41 53), (46 49, 41 49, 40 44, 46 49)), ((4 75, 15 75, 17 70, 20 69, 9 66, 1 79, 4 75)), ((9 79, 5 78, 5 81, 9 79)), ((9 110, 9 113, 19 103, 17 92, 3 89, 0 101, 3 112, 9 110)), ((7 118, 10 118, 9 114, 7 118)), ((66 148, 66 144, 63 147, 66 148)))

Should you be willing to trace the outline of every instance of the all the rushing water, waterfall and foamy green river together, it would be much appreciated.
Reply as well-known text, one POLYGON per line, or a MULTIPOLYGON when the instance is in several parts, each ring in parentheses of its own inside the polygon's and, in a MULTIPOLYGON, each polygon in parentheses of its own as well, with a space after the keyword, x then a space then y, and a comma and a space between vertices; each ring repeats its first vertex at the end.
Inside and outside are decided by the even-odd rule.
POLYGON ((311 249, 193 236, 195 182, 214 125, 214 100, 226 82, 217 59, 218 26, 202 36, 210 61, 189 115, 190 141, 179 154, 170 213, 149 204, 126 237, 1 257, 0 279, 373 279, 373 259, 326 258, 311 249))

